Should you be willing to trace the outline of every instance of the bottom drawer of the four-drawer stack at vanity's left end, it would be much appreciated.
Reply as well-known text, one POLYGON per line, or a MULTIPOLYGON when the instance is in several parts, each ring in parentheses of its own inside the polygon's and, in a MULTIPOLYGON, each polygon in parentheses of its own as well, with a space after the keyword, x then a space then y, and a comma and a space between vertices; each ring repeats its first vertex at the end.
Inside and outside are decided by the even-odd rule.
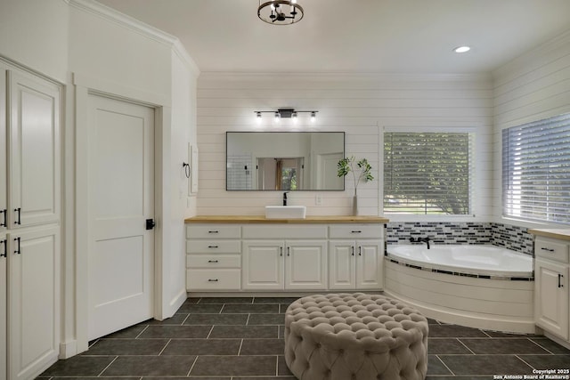
POLYGON ((241 271, 239 269, 188 269, 186 289, 197 290, 240 290, 241 271))

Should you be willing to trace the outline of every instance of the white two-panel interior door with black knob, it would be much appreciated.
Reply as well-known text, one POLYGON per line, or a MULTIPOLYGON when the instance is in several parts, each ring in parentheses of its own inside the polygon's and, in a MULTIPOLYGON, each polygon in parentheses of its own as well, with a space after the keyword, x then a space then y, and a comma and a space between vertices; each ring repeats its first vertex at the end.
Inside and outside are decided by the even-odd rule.
POLYGON ((154 109, 89 95, 88 338, 153 316, 154 109))

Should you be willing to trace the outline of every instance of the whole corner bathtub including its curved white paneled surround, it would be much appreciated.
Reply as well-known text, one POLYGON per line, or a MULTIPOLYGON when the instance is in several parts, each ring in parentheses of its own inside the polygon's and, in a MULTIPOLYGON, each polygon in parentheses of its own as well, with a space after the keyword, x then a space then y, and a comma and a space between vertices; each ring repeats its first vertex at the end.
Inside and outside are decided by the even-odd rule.
POLYGON ((533 258, 494 246, 394 245, 384 292, 445 323, 534 333, 533 258))

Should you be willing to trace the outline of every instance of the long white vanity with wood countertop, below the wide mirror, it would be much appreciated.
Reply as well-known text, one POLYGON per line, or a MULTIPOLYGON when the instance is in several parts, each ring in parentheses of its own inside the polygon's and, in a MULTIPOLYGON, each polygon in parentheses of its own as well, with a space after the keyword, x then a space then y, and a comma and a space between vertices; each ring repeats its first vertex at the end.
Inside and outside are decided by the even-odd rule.
POLYGON ((386 222, 366 216, 282 222, 251 216, 190 218, 186 290, 381 290, 386 222))

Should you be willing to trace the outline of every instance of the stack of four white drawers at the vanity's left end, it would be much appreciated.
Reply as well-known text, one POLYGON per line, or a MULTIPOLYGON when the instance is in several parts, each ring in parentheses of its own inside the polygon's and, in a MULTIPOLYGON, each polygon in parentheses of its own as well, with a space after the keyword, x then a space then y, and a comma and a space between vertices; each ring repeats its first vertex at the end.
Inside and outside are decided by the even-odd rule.
POLYGON ((240 290, 240 225, 186 225, 188 291, 240 290))

